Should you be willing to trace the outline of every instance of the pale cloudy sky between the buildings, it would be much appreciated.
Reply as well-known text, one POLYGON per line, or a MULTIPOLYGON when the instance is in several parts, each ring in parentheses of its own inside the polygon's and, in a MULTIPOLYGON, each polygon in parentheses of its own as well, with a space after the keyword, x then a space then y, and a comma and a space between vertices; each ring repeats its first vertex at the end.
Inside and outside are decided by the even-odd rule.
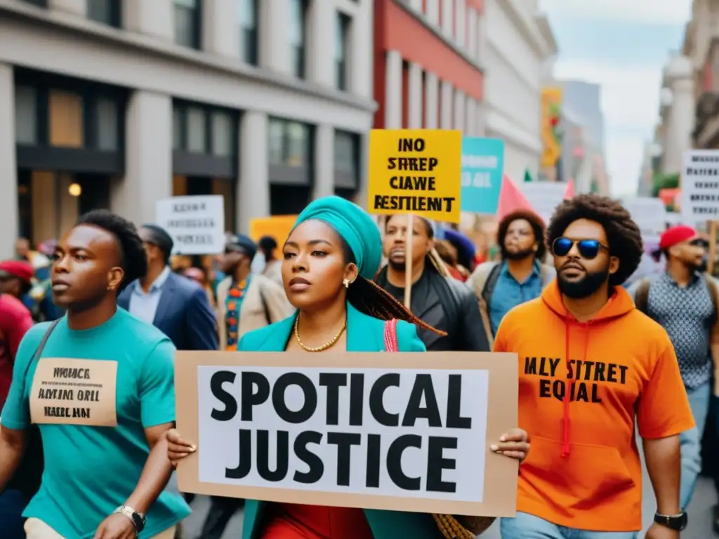
POLYGON ((661 69, 679 50, 692 0, 541 0, 558 79, 602 86, 612 195, 636 193, 644 144, 659 120, 661 69))

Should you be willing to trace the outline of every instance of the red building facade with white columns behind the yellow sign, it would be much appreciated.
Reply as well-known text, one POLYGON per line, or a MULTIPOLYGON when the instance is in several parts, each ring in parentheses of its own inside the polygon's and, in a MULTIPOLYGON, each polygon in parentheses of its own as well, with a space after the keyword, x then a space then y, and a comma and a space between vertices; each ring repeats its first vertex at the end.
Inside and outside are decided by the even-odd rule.
POLYGON ((482 0, 375 0, 375 127, 485 131, 482 0))

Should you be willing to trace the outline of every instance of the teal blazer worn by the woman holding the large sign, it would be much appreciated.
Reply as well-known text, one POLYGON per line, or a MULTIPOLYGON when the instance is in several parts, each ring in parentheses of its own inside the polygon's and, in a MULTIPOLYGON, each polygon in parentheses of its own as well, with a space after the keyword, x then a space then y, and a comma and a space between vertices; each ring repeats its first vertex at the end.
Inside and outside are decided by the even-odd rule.
MULTIPOLYGON (((237 345, 238 351, 284 351, 293 332, 295 315, 265 328, 250 331, 237 345)), ((359 312, 347 303, 347 351, 385 351, 385 322, 359 312)), ((397 341, 402 352, 423 352, 424 344, 417 336, 416 327, 408 322, 397 323, 397 341)), ((248 499, 244 504, 242 539, 256 539, 260 530, 265 502, 248 499)), ((436 522, 425 513, 380 511, 365 509, 367 522, 375 539, 437 539, 441 532, 436 522)))

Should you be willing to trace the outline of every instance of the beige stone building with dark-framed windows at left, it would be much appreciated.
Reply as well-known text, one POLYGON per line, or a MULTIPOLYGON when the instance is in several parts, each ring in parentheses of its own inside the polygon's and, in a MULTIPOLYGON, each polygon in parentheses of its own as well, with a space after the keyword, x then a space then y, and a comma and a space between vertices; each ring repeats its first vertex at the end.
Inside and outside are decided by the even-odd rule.
POLYGON ((371 0, 0 0, 0 257, 90 208, 154 221, 221 194, 226 228, 354 198, 371 0))

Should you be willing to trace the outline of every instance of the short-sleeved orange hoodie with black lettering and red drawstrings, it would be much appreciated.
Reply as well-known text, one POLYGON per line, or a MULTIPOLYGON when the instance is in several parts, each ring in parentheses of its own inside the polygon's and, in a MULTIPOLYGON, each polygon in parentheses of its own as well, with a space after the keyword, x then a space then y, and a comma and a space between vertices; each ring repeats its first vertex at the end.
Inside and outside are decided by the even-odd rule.
POLYGON ((580 323, 555 280, 510 310, 495 351, 519 354, 519 426, 531 440, 517 510, 579 530, 641 530, 635 416, 643 438, 694 426, 664 329, 622 287, 580 323))

